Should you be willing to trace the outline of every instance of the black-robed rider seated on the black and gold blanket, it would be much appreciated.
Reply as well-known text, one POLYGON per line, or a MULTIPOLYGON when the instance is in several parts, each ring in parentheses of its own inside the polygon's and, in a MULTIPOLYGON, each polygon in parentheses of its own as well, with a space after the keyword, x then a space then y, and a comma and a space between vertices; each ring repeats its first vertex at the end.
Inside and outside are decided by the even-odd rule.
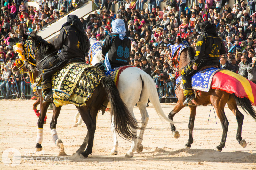
POLYGON ((54 39, 54 45, 61 52, 46 59, 41 68, 44 71, 41 85, 42 91, 45 92, 45 102, 52 101, 52 74, 70 62, 70 59, 72 62, 85 61, 85 54, 89 51, 89 39, 84 32, 82 22, 76 15, 67 16, 67 22, 62 25, 59 35, 54 39))

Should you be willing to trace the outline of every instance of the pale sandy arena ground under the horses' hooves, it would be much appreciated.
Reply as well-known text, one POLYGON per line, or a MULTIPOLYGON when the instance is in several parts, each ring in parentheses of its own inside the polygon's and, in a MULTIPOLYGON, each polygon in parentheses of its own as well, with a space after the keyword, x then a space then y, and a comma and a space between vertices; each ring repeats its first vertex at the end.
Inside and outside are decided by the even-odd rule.
MULTIPOLYGON (((60 149, 52 141, 49 128, 52 110, 48 110, 49 118, 44 125, 43 150, 40 156, 32 154, 36 145, 37 129, 37 117, 32 110, 33 102, 31 100, 0 101, 0 155, 2 156, 8 148, 15 148, 21 153, 22 158, 21 163, 15 167, 4 165, 0 158, 0 169, 256 169, 256 122, 241 111, 244 113, 242 137, 247 142, 247 147, 242 148, 235 139, 236 117, 226 106, 229 131, 225 148, 222 152, 218 152, 215 147, 220 143, 222 127, 218 117, 216 124, 213 110, 207 124, 210 105, 197 107, 193 131, 194 143, 191 149, 186 149, 188 123, 176 124, 180 138, 175 139, 170 131, 170 124, 162 122, 150 104, 147 107, 150 119, 142 142, 144 150, 141 153, 135 152, 133 158, 124 157, 131 143, 120 137, 118 155, 109 155, 113 147, 110 115, 99 114, 93 152, 87 159, 70 157, 82 144, 87 129, 84 123, 79 127, 72 127, 77 110, 73 105, 63 106, 56 129, 64 143, 67 154, 65 158, 68 161, 40 161, 47 156, 60 159, 58 156, 60 149), (30 159, 26 160, 24 157, 30 159)), ((162 104, 166 115, 173 107, 174 103, 162 104)), ((140 122, 138 107, 134 108, 134 113, 140 122)), ((188 119, 188 107, 174 117, 174 121, 188 119)), ((8 156, 12 160, 12 153, 8 156)))

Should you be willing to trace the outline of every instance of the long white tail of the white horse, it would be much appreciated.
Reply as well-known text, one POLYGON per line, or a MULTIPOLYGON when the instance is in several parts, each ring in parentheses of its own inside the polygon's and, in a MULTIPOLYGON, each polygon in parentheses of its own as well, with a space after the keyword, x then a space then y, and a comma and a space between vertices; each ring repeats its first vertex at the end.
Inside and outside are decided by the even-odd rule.
POLYGON ((143 88, 145 88, 146 92, 149 93, 149 100, 153 104, 154 109, 156 110, 156 113, 160 117, 162 121, 167 121, 170 123, 183 123, 183 122, 174 122, 171 119, 169 119, 165 114, 161 107, 161 104, 159 102, 159 96, 156 90, 156 85, 150 75, 143 72, 140 74, 141 80, 143 82, 143 88))

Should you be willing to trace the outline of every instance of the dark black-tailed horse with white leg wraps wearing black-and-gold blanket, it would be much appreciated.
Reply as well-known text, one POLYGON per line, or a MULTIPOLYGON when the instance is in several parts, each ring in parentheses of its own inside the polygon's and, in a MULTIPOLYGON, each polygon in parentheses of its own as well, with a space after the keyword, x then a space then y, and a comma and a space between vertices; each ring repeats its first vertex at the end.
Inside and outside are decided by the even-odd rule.
MULTIPOLYGON (((36 67, 38 70, 41 69, 43 62, 40 61, 42 61, 43 59, 45 59, 46 57, 57 55, 57 50, 55 46, 43 40, 40 36, 36 35, 36 32, 32 32, 29 36, 23 34, 22 48, 25 51, 25 59, 28 60, 28 62, 32 63, 30 64, 30 67, 33 71, 36 67)), ((98 67, 95 67, 94 69, 98 69, 99 72, 101 71, 98 67)), ((38 94, 41 94, 40 90, 38 90, 37 92, 38 94)), ((136 136, 136 133, 133 133, 133 131, 136 131, 138 129, 137 122, 130 115, 127 106, 120 98, 120 94, 115 86, 114 81, 108 77, 103 76, 101 77, 98 86, 95 87, 95 90, 93 91, 91 97, 87 101, 85 101, 85 106, 76 105, 76 108, 78 109, 88 130, 87 135, 84 138, 84 142, 75 153, 76 156, 79 156, 81 154, 83 158, 87 158, 88 155, 92 153, 93 139, 96 129, 96 117, 99 110, 102 108, 102 106, 104 106, 103 104, 106 101, 109 101, 111 105, 112 110, 110 113, 111 117, 114 118, 112 119, 112 124, 115 124, 115 129, 117 133, 119 135, 122 135, 126 139, 138 138, 136 136)), ((41 114, 37 123, 37 151, 42 150, 41 143, 43 141, 43 120, 46 115, 46 111, 49 104, 50 103, 48 102, 42 103, 42 101, 40 101, 41 114)), ((56 125, 61 107, 56 107, 55 105, 53 107, 54 110, 58 111, 55 112, 55 114, 53 114, 52 116, 50 128, 52 132, 53 141, 57 146, 59 146, 60 144, 62 144, 62 141, 58 138, 56 125)))

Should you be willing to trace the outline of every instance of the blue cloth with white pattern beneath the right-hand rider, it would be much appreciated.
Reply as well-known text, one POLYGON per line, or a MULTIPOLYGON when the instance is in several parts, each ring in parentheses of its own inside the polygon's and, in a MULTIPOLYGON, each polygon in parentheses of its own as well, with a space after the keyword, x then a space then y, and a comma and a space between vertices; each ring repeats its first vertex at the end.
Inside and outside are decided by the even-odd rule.
MULTIPOLYGON (((199 71, 196 74, 192 75, 191 83, 193 90, 200 90, 208 92, 211 87, 212 78, 216 72, 218 72, 219 68, 207 68, 205 70, 199 71)), ((176 79, 176 84, 178 84, 182 80, 181 76, 176 79)), ((183 89, 182 83, 180 88, 183 89)))

